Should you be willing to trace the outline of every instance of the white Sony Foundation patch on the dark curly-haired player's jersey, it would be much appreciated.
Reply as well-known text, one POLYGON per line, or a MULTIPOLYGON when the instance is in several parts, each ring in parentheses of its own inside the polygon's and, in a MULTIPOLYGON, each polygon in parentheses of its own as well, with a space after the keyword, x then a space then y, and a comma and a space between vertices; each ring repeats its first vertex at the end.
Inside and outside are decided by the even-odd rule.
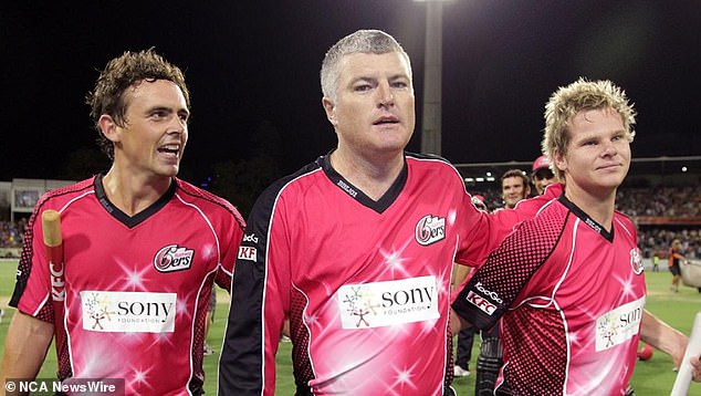
POLYGON ((172 333, 176 293, 82 291, 83 330, 172 333))

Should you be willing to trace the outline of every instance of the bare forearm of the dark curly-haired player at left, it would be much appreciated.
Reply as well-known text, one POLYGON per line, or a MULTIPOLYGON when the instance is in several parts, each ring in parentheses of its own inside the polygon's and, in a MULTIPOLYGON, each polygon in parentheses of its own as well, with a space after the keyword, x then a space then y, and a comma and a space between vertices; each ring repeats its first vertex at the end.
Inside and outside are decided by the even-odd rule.
POLYGON ((53 338, 53 324, 17 311, 8 329, 2 378, 35 378, 53 338))

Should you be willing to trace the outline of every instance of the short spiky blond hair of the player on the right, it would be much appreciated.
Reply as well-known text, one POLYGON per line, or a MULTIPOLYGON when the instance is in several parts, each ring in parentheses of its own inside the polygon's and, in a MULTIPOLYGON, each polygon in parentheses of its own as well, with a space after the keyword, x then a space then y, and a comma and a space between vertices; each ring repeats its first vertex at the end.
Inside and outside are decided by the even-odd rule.
MULTIPOLYGON (((626 92, 608 80, 588 81, 585 77, 567 86, 561 86, 551 95, 545 104, 545 129, 541 149, 553 163, 555 153, 564 155, 569 144, 569 124, 577 113, 590 110, 610 108, 620 115, 628 142, 632 142, 636 133, 636 111, 626 97, 626 92)), ((553 171, 559 180, 563 173, 554 166, 553 171)))

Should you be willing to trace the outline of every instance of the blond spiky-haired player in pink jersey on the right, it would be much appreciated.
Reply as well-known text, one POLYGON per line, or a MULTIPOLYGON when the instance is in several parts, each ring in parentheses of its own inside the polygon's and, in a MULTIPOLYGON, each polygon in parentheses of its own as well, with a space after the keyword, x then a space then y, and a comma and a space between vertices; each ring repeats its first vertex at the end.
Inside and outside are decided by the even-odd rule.
POLYGON ((496 394, 505 384, 517 395, 622 395, 639 340, 681 362, 688 337, 645 310, 636 227, 615 210, 634 124, 609 81, 579 79, 547 102, 542 147, 565 191, 506 237, 452 304, 454 329, 500 323, 496 394))

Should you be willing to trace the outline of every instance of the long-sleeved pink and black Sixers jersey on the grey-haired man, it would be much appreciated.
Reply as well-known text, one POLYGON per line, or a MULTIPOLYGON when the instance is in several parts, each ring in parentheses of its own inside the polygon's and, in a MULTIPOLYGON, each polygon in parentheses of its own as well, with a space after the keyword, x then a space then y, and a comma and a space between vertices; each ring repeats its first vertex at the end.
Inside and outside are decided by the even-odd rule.
POLYGON ((221 395, 273 394, 285 317, 300 394, 442 395, 452 263, 481 262, 512 225, 477 210, 446 160, 417 155, 378 201, 322 157, 265 190, 248 222, 221 395))

